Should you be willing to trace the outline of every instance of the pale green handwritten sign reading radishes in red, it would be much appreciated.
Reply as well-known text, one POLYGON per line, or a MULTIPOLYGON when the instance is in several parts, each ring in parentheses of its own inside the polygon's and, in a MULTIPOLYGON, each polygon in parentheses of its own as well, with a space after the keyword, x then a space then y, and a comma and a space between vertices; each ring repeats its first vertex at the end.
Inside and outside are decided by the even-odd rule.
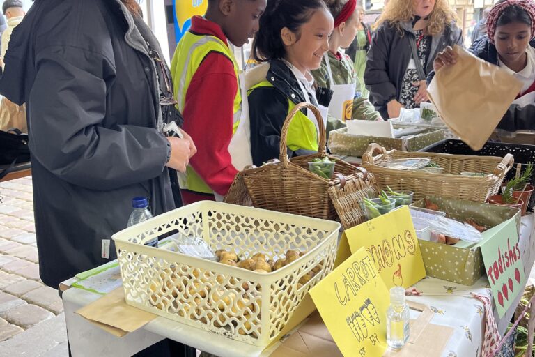
POLYGON ((526 285, 515 219, 511 218, 483 235, 492 236, 481 244, 481 254, 499 317, 503 317, 526 285))

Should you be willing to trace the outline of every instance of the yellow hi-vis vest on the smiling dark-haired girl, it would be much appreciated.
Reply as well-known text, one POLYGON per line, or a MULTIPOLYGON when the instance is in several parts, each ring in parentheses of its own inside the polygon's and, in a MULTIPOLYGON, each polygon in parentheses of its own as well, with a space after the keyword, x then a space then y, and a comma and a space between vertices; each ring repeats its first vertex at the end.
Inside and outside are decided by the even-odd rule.
MULTIPOLYGON (((247 91, 249 95, 254 89, 260 87, 272 87, 273 84, 267 80, 262 81, 247 91)), ((294 102, 288 99, 288 113, 295 107, 294 102)), ((288 113, 286 116, 288 116, 288 113)), ((281 128, 282 130, 282 128, 281 128)), ((291 151, 299 149, 318 151, 318 130, 316 125, 303 112, 297 112, 293 117, 290 127, 288 128, 288 136, 286 137, 286 145, 291 151)))

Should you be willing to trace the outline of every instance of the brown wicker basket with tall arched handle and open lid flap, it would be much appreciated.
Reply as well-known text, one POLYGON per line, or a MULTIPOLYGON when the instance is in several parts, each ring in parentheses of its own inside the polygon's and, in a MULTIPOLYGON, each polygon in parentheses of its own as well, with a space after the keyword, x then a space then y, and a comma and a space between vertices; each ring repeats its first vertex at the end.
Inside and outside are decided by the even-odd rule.
MULTIPOLYGON (((247 202, 253 206, 272 211, 306 215, 313 218, 340 220, 344 228, 364 222, 364 213, 358 201, 364 196, 376 195, 378 191, 375 177, 362 167, 355 167, 343 160, 334 160, 335 179, 323 179, 309 171, 308 162, 314 158, 325 158, 325 127, 319 110, 309 103, 301 103, 288 113, 281 130, 279 160, 271 160, 261 167, 253 167, 240 172, 233 190, 227 197, 240 197, 238 204, 247 202), (288 159, 286 137, 290 122, 301 109, 310 109, 318 118, 318 153, 288 159), (244 199, 247 197, 247 199, 244 199), (333 202, 333 199, 335 202, 333 202)), ((226 202, 232 202, 227 199, 226 202)))

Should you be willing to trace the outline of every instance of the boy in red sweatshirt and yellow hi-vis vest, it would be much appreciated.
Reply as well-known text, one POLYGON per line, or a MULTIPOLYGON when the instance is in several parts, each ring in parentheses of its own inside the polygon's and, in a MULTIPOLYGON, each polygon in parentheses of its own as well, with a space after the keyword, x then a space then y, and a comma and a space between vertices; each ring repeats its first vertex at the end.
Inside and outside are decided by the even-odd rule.
POLYGON ((258 31, 267 0, 208 0, 204 17, 176 47, 171 61, 183 128, 197 153, 180 176, 185 204, 226 195, 238 170, 228 147, 240 124, 239 68, 230 44, 241 47, 258 31))

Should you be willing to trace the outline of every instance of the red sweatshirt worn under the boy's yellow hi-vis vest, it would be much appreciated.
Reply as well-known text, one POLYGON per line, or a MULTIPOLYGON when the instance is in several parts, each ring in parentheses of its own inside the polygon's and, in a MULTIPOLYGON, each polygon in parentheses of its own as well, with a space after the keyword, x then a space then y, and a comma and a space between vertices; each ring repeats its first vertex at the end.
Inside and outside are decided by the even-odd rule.
MULTIPOLYGON (((221 27, 203 17, 192 17, 189 31, 215 36, 228 45, 221 27)), ((219 195, 226 195, 238 173, 228 153, 237 91, 238 80, 231 59, 210 52, 192 77, 182 113, 183 128, 197 148, 189 165, 219 195)))

